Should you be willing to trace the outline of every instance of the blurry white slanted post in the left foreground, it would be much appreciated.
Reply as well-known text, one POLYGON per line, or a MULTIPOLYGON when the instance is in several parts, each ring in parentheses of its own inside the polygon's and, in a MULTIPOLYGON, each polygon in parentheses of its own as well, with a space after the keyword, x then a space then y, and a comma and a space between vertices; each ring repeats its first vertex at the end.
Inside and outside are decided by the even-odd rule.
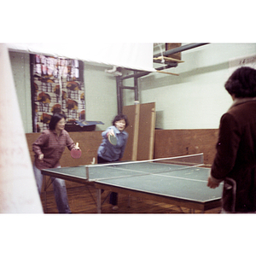
POLYGON ((0 212, 43 213, 5 44, 0 44, 0 212))

